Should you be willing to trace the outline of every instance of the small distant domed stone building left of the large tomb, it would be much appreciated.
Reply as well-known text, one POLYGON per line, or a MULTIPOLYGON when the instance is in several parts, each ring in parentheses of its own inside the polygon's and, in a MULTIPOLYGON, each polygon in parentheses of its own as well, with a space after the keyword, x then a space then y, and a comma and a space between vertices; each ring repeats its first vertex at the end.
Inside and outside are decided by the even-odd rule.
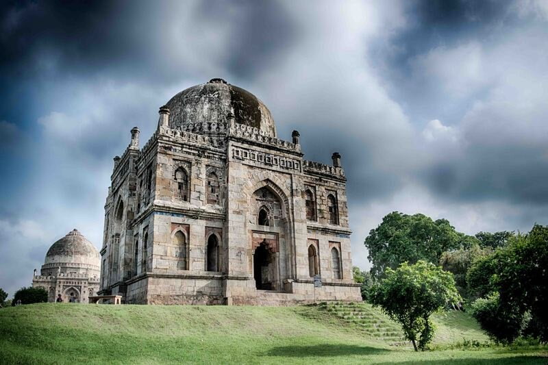
POLYGON ((34 270, 32 286, 44 288, 50 302, 60 297, 64 302, 88 303, 99 290, 100 266, 99 251, 73 229, 51 245, 40 275, 34 270))

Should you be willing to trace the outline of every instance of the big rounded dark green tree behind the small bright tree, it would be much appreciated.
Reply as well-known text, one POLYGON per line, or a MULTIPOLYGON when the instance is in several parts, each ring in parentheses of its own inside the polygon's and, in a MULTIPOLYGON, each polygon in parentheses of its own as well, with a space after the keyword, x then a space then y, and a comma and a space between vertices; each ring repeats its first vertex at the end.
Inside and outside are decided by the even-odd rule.
POLYGON ((392 212, 382 218, 377 228, 371 229, 364 244, 373 263, 371 274, 378 279, 386 268, 419 260, 437 264, 444 251, 466 248, 476 241, 457 232, 447 219, 432 221, 424 214, 392 212))

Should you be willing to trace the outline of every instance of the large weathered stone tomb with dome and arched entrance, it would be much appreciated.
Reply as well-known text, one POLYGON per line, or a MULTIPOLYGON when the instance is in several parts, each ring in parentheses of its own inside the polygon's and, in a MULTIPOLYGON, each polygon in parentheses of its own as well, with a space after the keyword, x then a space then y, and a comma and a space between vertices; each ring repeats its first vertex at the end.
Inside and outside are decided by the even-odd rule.
POLYGON ((114 158, 99 294, 143 304, 360 301, 346 179, 332 158, 304 160, 299 133, 277 138, 266 105, 223 79, 179 92, 145 146, 134 128, 114 158))

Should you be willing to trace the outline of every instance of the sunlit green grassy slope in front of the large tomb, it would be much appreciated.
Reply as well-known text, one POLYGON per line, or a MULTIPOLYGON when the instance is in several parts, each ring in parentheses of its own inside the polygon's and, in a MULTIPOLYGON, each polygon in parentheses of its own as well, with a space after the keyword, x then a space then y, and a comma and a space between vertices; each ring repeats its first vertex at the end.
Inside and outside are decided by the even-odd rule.
MULTIPOLYGON (((462 312, 434 318, 438 345, 485 341, 462 312)), ((0 310, 4 364, 546 364, 545 348, 414 353, 369 305, 37 304, 0 310)))

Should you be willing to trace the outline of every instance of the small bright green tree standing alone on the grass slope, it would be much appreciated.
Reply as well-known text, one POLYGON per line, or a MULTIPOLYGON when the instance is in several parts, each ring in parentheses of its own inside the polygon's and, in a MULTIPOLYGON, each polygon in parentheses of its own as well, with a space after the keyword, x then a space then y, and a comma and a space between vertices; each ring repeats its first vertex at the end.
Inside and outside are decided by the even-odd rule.
POLYGON ((434 337, 432 313, 458 301, 453 275, 423 260, 404 262, 396 270, 387 268, 371 292, 371 303, 401 325, 415 351, 424 351, 434 337))

